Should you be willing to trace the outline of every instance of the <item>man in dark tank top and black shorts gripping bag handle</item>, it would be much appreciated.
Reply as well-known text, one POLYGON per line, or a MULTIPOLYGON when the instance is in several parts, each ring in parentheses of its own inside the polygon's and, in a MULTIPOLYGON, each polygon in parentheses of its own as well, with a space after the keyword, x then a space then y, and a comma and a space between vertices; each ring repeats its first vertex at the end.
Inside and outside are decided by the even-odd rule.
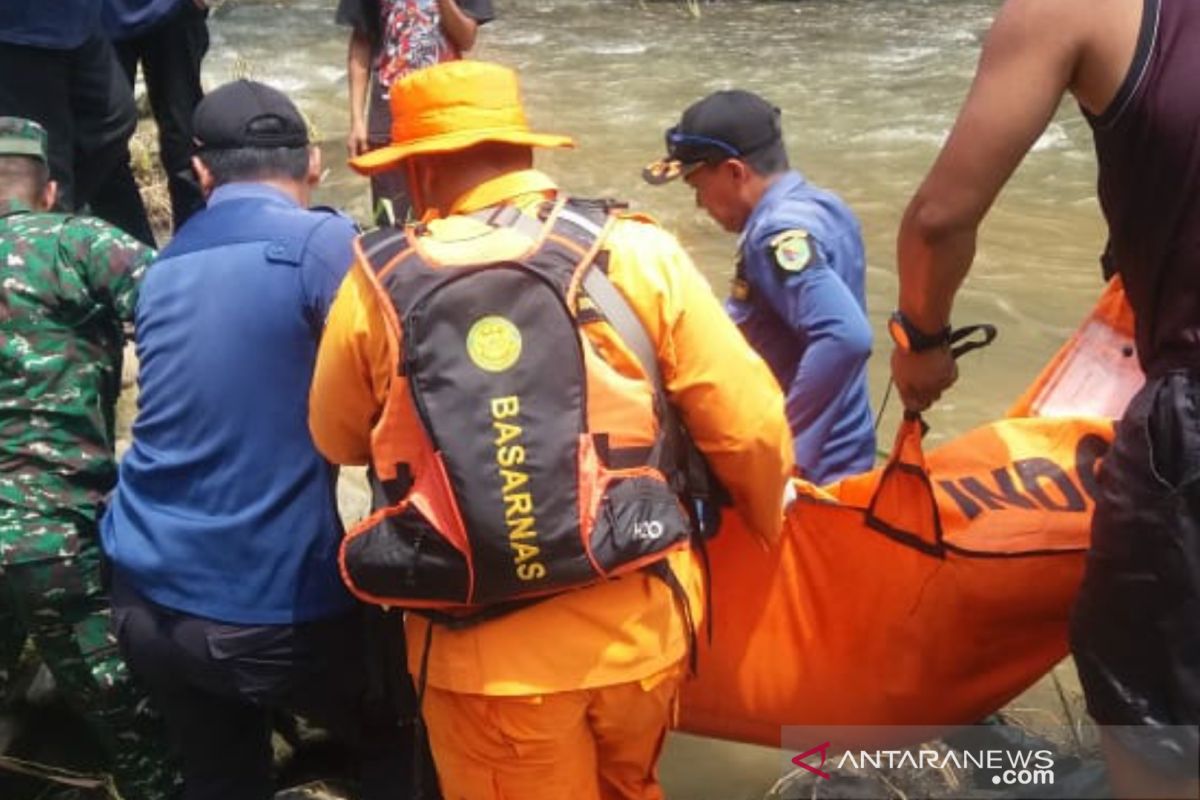
POLYGON ((1200 4, 1008 0, 905 213, 892 373, 911 410, 956 377, 950 307, 996 194, 1066 92, 1092 127, 1105 272, 1146 384, 1099 474, 1072 651, 1118 796, 1200 780, 1200 4))

